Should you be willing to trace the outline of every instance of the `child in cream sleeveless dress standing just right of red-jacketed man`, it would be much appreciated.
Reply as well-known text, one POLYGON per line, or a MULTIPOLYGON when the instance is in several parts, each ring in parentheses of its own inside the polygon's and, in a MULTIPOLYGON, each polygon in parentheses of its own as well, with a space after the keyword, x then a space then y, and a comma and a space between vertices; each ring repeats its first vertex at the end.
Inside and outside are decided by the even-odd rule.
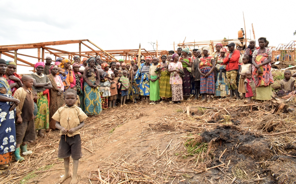
POLYGON ((239 79, 239 89, 238 91, 243 93, 243 99, 246 98, 246 89, 244 85, 244 80, 246 79, 246 72, 250 71, 252 72, 252 64, 249 64, 249 56, 243 57, 243 64, 241 65, 241 68, 239 70, 239 75, 241 75, 239 79))

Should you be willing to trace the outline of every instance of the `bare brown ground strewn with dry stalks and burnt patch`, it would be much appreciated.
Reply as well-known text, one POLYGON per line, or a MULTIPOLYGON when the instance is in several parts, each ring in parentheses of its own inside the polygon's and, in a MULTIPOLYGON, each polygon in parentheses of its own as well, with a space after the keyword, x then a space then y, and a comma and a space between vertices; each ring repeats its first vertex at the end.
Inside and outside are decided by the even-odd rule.
MULTIPOLYGON (((81 130, 77 183, 295 183, 295 133, 264 135, 295 130, 295 114, 272 114, 275 105, 191 100, 105 110, 81 130)), ((33 154, 2 171, 0 184, 58 183, 58 142, 58 131, 38 137, 28 145, 33 154)))

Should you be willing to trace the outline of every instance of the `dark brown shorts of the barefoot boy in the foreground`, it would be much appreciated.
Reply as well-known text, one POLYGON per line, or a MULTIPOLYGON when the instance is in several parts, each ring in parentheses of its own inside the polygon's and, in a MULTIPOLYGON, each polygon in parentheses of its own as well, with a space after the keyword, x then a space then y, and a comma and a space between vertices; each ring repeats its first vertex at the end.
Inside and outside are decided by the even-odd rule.
POLYGON ((80 134, 74 135, 73 137, 61 135, 57 157, 65 159, 70 156, 74 160, 79 160, 82 157, 80 134))

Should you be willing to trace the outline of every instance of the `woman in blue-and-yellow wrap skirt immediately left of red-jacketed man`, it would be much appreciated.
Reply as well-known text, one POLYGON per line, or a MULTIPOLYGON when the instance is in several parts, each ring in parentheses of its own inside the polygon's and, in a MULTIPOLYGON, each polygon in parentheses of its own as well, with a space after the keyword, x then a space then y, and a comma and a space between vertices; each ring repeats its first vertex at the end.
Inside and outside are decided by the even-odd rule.
POLYGON ((223 65, 223 60, 226 57, 227 50, 222 48, 220 50, 220 55, 216 61, 216 77, 215 77, 215 95, 226 98, 228 95, 228 83, 226 78, 226 65, 223 65))

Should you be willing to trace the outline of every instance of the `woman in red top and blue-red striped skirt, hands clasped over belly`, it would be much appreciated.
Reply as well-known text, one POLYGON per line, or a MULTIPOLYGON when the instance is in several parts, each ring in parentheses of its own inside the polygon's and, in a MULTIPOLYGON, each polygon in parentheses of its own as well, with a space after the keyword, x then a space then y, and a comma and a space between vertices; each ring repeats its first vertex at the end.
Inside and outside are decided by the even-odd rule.
POLYGON ((203 96, 201 102, 205 102, 208 97, 208 101, 211 101, 211 95, 215 94, 215 79, 214 79, 214 70, 215 70, 215 60, 213 56, 208 54, 209 47, 202 47, 203 57, 200 58, 200 63, 198 71, 201 74, 200 77, 200 93, 203 96))

